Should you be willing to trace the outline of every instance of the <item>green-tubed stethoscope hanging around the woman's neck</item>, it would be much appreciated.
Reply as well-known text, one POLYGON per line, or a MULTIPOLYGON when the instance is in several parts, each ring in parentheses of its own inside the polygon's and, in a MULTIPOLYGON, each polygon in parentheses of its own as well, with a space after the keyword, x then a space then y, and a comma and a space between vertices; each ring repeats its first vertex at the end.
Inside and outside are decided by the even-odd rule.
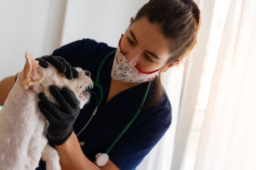
MULTIPOLYGON (((99 108, 99 105, 101 105, 102 103, 102 99, 103 99, 103 89, 102 89, 102 86, 99 84, 99 78, 100 78, 100 73, 101 73, 101 70, 102 70, 102 67, 103 65, 105 64, 106 60, 113 54, 116 53, 116 50, 115 51, 112 51, 110 52, 101 62, 101 64, 99 65, 99 70, 98 70, 98 73, 97 73, 97 77, 96 77, 96 81, 93 83, 94 87, 98 87, 99 88, 99 91, 100 91, 100 97, 99 97, 99 100, 98 102, 96 103, 96 108, 94 109, 93 111, 93 114, 92 116, 90 117, 90 119, 88 120, 87 124, 83 127, 83 129, 77 133, 76 136, 79 136, 83 131, 84 129, 87 127, 87 125, 89 124, 89 122, 91 121, 91 119, 93 118, 93 116, 96 114, 98 108, 99 108)), ((147 88, 146 88, 146 91, 145 91, 145 94, 143 95, 143 98, 140 102, 140 107, 138 108, 137 112, 135 113, 135 115, 133 116, 133 118, 131 119, 131 121, 125 126, 125 128, 122 130, 122 132, 116 137, 116 139, 113 141, 113 143, 104 151, 104 153, 98 153, 95 158, 96 158, 96 164, 99 166, 99 167, 103 167, 105 166, 105 164, 108 163, 109 161, 109 156, 108 156, 108 153, 111 151, 111 149, 113 148, 113 146, 116 144, 116 142, 118 142, 118 140, 122 137, 122 135, 125 133, 125 131, 128 129, 128 127, 130 127, 130 125, 134 122, 134 120, 136 119, 136 117, 138 116, 138 114, 140 113, 140 110, 142 108, 142 106, 144 105, 144 102, 145 102, 145 99, 148 95, 148 91, 149 91, 149 87, 151 85, 151 81, 148 82, 148 85, 147 85, 147 88)))

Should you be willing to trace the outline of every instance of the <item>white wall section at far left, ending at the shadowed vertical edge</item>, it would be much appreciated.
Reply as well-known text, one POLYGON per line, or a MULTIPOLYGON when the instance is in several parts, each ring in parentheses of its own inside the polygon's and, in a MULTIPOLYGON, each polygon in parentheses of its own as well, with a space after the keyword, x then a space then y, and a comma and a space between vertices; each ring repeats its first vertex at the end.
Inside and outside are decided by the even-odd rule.
POLYGON ((0 0, 0 80, 21 71, 25 51, 50 54, 61 42, 66 0, 0 0))

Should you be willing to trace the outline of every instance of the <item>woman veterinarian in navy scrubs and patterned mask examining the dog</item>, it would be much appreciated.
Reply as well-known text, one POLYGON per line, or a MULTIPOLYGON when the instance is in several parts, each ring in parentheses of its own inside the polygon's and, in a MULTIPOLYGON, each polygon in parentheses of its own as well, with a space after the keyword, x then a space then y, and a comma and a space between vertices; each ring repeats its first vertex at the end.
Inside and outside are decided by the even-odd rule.
MULTIPOLYGON (((66 111, 39 95, 50 124, 47 137, 63 170, 134 170, 140 164, 171 125, 172 108, 160 75, 192 50, 200 21, 192 0, 150 0, 131 18, 117 48, 82 39, 37 58, 41 67, 47 69, 49 62, 67 79, 76 79, 73 67, 81 67, 98 83, 81 111, 72 107, 78 105, 72 92, 64 97, 57 87, 50 89, 58 102, 70 106, 66 111)), ((15 77, 0 82, 5 93, 0 105, 15 77)), ((41 161, 37 170, 44 169, 41 161)))

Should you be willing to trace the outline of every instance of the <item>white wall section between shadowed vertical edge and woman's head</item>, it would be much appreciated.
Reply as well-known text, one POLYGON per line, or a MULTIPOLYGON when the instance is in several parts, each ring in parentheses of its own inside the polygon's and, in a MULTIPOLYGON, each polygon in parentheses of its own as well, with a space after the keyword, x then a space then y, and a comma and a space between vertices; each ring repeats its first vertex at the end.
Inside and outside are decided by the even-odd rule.
POLYGON ((90 38, 117 47, 130 18, 148 0, 70 0, 61 44, 90 38))

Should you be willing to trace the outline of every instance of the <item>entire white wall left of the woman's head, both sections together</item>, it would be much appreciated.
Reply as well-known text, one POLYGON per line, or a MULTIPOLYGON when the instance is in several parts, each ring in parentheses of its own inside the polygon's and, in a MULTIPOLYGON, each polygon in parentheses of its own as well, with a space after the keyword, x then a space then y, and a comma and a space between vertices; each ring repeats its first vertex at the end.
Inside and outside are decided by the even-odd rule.
POLYGON ((0 0, 0 80, 23 68, 25 51, 41 57, 82 38, 117 46, 147 1, 0 0))

